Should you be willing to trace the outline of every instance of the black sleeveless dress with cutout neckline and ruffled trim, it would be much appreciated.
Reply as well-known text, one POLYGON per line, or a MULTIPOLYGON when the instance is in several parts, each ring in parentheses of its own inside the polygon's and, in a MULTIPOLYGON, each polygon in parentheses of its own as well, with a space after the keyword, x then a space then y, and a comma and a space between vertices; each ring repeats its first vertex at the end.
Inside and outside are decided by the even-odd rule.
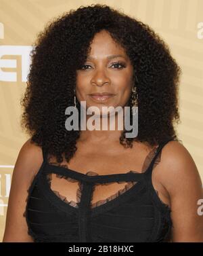
POLYGON ((152 170, 168 141, 150 152, 146 160, 149 162, 151 156, 152 161, 142 172, 115 175, 83 174, 51 164, 43 150, 43 164, 28 189, 24 213, 28 234, 35 242, 168 242, 171 208, 160 200, 152 185, 152 170), (52 181, 58 191, 51 188, 52 181), (79 186, 77 202, 62 196, 65 193, 60 191, 60 182, 67 183, 63 186, 69 189, 66 195, 71 194, 73 185, 79 186), (113 183, 127 185, 109 198, 91 203, 96 185, 108 189, 113 183))

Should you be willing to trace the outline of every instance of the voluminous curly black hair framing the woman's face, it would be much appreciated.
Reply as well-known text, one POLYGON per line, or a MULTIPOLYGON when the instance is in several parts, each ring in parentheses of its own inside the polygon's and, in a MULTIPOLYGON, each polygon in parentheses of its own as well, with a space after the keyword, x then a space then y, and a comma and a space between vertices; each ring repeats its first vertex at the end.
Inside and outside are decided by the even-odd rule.
POLYGON ((125 138, 126 131, 121 131, 120 144, 132 147, 136 140, 154 146, 166 139, 178 140, 174 124, 180 120, 181 69, 168 45, 150 26, 120 10, 82 5, 51 20, 37 36, 26 92, 20 100, 22 128, 32 143, 44 147, 58 162, 63 161, 63 153, 69 162, 76 151, 80 129, 66 130, 65 109, 74 106, 76 70, 85 63, 95 33, 103 29, 126 50, 137 77, 139 132, 135 138, 125 138))

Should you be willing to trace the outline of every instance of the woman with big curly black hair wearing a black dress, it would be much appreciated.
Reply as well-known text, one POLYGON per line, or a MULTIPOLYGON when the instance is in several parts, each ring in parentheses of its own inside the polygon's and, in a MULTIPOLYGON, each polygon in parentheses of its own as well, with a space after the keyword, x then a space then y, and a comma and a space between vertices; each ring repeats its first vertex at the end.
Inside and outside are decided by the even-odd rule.
POLYGON ((166 43, 97 4, 54 20, 35 46, 22 100, 30 139, 3 241, 202 242, 202 182, 175 132, 181 71, 166 43), (118 129, 118 114, 114 130, 66 129, 66 108, 81 113, 82 101, 97 121, 110 121, 103 107, 138 107, 137 136, 118 129))

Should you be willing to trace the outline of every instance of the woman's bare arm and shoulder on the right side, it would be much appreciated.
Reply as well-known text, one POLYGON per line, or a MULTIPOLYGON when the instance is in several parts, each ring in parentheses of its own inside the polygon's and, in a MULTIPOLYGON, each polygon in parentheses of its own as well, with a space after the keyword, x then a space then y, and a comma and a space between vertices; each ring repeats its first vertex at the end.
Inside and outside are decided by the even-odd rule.
POLYGON ((196 164, 177 141, 169 142, 161 157, 161 182, 171 199, 172 242, 203 242, 203 215, 198 212, 203 189, 196 164))

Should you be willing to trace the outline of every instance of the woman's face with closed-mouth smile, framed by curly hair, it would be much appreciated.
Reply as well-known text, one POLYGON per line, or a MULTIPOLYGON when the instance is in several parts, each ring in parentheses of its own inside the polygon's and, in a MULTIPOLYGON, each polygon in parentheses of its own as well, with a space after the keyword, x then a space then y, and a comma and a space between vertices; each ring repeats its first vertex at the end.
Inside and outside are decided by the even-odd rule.
POLYGON ((125 107, 133 86, 133 66, 125 50, 116 44, 106 31, 97 33, 91 44, 91 52, 76 77, 76 98, 86 101, 86 107, 125 107), (119 55, 119 56, 118 56, 119 55), (95 93, 112 96, 98 98, 95 93))

